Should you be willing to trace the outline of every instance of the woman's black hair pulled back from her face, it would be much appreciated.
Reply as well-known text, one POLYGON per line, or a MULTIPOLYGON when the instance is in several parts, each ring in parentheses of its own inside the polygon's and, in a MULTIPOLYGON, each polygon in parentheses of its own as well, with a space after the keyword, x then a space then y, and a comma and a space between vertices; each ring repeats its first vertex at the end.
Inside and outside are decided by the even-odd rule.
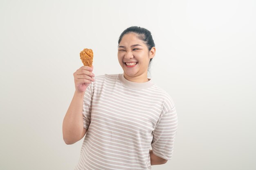
MULTIPOLYGON (((155 43, 154 43, 154 40, 153 40, 153 37, 152 37, 150 31, 148 31, 146 28, 142 28, 139 26, 131 26, 131 27, 127 28, 126 30, 124 30, 123 33, 121 33, 121 35, 119 37, 118 44, 121 42, 124 35, 126 35, 128 33, 136 33, 138 38, 145 42, 149 51, 151 50, 152 47, 155 47, 155 43)), ((151 60, 152 59, 150 59, 150 61, 149 61, 148 69, 150 67, 151 60)))

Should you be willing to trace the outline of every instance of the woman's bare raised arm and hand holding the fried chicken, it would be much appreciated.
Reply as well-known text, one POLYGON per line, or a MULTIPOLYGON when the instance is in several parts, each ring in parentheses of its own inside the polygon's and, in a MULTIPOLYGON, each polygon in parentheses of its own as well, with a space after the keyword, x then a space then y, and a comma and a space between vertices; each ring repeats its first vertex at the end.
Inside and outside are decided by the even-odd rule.
POLYGON ((66 144, 74 144, 87 132, 83 128, 83 96, 88 85, 94 81, 93 67, 83 66, 74 72, 76 90, 63 120, 63 140, 66 144))

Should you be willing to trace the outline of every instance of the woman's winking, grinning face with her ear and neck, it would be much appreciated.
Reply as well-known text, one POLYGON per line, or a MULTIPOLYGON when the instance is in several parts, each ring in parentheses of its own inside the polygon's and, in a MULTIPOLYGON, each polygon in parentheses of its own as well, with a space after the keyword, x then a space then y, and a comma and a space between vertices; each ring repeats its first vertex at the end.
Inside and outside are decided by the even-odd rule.
POLYGON ((119 43, 117 56, 127 80, 148 81, 148 64, 155 56, 155 47, 149 51, 144 41, 138 39, 137 34, 128 33, 119 43))

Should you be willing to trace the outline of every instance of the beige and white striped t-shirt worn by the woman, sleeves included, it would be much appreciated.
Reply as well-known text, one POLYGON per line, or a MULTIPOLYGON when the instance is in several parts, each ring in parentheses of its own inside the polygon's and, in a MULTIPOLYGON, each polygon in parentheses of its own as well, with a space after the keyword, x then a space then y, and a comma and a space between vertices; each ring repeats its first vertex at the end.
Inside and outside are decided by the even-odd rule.
POLYGON ((170 160, 177 113, 168 93, 151 79, 135 83, 124 74, 94 79, 83 98, 88 131, 75 170, 150 170, 150 146, 170 160))

